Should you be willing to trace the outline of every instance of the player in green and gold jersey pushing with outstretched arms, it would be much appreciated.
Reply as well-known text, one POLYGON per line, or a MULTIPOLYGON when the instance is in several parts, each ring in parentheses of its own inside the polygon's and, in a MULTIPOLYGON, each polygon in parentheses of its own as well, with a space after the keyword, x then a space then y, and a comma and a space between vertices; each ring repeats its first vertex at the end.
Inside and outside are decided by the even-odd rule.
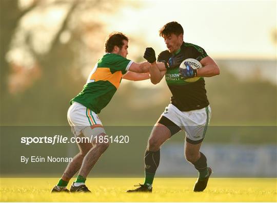
POLYGON ((110 102, 122 78, 133 81, 149 79, 148 62, 135 63, 126 59, 128 41, 121 32, 108 35, 106 53, 93 67, 83 90, 70 101, 67 118, 72 133, 76 138, 87 137, 91 142, 77 143, 80 153, 68 164, 52 192, 69 192, 67 184, 77 172, 70 192, 90 192, 85 185, 86 177, 109 146, 108 140, 96 142, 95 137, 106 135, 97 114, 110 102))

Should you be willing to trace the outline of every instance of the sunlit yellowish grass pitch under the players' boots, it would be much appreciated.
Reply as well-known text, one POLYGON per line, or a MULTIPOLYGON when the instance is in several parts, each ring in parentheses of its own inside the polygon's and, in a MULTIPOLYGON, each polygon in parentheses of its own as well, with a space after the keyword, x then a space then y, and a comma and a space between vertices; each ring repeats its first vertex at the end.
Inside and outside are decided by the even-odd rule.
POLYGON ((90 194, 50 194, 57 181, 58 178, 1 178, 1 201, 277 201, 276 178, 210 178, 202 193, 192 192, 195 178, 155 178, 153 193, 136 194, 125 191, 142 183, 143 178, 88 178, 90 194))

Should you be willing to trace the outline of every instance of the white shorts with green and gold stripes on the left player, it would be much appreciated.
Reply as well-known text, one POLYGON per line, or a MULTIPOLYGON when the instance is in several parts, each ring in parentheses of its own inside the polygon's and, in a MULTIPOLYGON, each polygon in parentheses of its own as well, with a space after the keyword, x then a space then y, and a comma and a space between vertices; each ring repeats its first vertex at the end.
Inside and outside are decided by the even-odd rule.
POLYGON ((102 122, 98 118, 97 114, 78 102, 73 102, 73 104, 69 107, 67 119, 74 136, 78 136, 83 133, 84 128, 88 126, 102 126, 102 122))

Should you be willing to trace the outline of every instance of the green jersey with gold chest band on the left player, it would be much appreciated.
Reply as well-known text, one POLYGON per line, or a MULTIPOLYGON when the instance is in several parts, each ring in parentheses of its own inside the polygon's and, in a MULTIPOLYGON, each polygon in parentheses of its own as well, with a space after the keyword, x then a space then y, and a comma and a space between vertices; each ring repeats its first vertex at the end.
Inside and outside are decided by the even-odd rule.
POLYGON ((83 90, 73 101, 83 104, 98 114, 110 102, 120 85, 122 76, 128 71, 132 61, 115 53, 106 53, 97 61, 90 72, 83 90))

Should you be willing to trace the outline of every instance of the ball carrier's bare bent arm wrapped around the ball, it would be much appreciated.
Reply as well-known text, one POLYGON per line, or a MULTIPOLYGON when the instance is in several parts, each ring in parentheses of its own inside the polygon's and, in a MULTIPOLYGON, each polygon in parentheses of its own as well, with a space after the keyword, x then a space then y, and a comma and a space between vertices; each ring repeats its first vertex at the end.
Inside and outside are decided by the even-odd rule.
POLYGON ((205 57, 200 61, 203 68, 196 69, 199 77, 212 77, 220 74, 220 68, 211 57, 205 57))

